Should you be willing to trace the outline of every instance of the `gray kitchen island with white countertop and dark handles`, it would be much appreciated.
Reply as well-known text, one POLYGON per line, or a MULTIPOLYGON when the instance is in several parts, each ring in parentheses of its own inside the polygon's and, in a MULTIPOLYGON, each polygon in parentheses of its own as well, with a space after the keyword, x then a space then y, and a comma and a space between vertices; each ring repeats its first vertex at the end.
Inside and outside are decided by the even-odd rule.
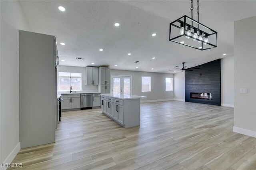
POLYGON ((101 94, 101 111, 124 128, 140 125, 140 99, 144 96, 101 94))

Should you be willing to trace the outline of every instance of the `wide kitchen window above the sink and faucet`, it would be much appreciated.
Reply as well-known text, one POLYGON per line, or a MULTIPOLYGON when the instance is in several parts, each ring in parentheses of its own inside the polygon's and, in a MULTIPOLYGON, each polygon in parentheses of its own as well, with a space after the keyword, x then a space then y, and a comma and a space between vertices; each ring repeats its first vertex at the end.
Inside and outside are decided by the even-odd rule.
POLYGON ((58 73, 58 91, 82 91, 82 73, 58 73))

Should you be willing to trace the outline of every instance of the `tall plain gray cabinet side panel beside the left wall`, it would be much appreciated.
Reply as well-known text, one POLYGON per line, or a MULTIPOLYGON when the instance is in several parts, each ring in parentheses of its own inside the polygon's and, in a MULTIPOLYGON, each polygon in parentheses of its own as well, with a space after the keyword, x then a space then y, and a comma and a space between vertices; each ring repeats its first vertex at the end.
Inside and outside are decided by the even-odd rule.
POLYGON ((54 36, 19 31, 21 148, 55 141, 55 44, 54 36))

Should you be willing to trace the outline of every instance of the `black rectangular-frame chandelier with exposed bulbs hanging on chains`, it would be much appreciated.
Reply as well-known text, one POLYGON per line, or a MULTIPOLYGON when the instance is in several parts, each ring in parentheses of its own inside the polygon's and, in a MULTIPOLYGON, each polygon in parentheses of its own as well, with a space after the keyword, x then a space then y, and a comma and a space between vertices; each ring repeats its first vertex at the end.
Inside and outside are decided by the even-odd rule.
POLYGON ((193 0, 191 0, 191 18, 184 15, 170 23, 169 41, 201 51, 217 47, 218 33, 199 22, 199 0, 197 0, 197 21, 193 20, 193 9, 193 0))

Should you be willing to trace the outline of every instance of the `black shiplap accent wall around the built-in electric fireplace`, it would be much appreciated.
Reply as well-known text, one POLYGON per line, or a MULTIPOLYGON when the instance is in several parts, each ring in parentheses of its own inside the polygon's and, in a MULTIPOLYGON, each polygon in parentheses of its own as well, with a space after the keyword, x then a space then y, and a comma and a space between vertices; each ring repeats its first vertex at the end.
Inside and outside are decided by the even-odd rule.
POLYGON ((198 65, 200 69, 185 71, 185 101, 209 105, 221 104, 220 59, 198 65), (202 75, 200 75, 202 74, 202 75), (212 93, 212 100, 191 99, 191 93, 212 93))

